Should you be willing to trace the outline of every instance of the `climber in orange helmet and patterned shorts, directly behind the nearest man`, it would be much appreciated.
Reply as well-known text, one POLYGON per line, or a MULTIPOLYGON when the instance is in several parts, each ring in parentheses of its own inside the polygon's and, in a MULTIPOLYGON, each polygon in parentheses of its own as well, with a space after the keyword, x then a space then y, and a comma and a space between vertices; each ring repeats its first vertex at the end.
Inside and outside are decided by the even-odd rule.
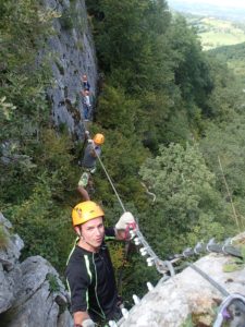
MULTIPOLYGON (((89 136, 89 134, 87 135, 89 136)), ((88 138, 88 144, 85 148, 83 160, 81 161, 83 173, 77 185, 77 191, 81 193, 84 201, 90 199, 86 189, 93 189, 91 174, 96 171, 96 159, 101 154, 101 145, 103 142, 105 136, 100 133, 97 133, 93 140, 88 138)))

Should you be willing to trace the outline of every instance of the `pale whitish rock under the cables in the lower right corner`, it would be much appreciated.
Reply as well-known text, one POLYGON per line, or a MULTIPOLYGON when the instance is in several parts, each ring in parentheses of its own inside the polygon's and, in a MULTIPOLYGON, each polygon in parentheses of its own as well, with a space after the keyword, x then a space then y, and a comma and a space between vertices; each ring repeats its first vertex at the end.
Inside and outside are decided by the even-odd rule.
MULTIPOLYGON (((230 293, 245 295, 245 268, 223 272, 231 257, 209 254, 195 263, 230 293)), ((191 267, 164 281, 161 279, 131 311, 123 327, 212 326, 216 308, 223 301, 217 288, 191 267), (195 325, 184 325, 192 316, 195 325)), ((226 325, 225 325, 226 326, 226 325)), ((229 326, 245 326, 229 325, 229 326)))

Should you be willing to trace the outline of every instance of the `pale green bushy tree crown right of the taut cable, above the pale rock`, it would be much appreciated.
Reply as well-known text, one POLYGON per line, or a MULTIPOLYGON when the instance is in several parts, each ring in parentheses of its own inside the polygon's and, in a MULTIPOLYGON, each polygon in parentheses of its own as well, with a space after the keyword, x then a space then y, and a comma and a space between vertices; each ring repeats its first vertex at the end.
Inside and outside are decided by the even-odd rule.
POLYGON ((146 232, 151 228, 150 238, 157 226, 158 232, 151 242, 158 251, 180 251, 186 238, 195 244, 200 239, 209 239, 209 232, 219 238, 228 232, 225 206, 216 189, 216 178, 197 145, 161 146, 159 156, 147 159, 139 173, 157 196, 151 209, 155 218, 144 225, 146 232), (222 228, 224 223, 226 230, 222 228))

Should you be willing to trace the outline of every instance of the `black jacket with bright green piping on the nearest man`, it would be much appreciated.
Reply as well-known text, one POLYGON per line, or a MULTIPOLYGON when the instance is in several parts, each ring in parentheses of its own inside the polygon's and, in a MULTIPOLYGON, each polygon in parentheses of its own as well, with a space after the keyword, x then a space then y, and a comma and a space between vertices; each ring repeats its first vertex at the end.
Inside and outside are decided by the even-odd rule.
MULTIPOLYGON (((107 237, 114 237, 113 229, 106 229, 107 237)), ((87 311, 95 322, 110 318, 117 307, 118 291, 106 242, 97 253, 75 245, 68 262, 65 276, 73 313, 87 311)))

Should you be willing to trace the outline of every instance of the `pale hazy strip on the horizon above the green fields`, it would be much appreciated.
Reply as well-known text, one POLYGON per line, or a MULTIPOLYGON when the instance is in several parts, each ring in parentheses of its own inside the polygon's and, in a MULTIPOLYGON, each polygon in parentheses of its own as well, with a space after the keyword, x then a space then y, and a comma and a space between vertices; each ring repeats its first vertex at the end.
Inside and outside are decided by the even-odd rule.
POLYGON ((170 9, 184 12, 192 13, 195 15, 205 15, 205 16, 213 16, 221 20, 229 20, 235 22, 244 22, 245 17, 245 8, 237 7, 225 7, 225 5, 216 5, 201 2, 197 2, 194 0, 182 1, 182 0, 169 0, 168 1, 170 9))

